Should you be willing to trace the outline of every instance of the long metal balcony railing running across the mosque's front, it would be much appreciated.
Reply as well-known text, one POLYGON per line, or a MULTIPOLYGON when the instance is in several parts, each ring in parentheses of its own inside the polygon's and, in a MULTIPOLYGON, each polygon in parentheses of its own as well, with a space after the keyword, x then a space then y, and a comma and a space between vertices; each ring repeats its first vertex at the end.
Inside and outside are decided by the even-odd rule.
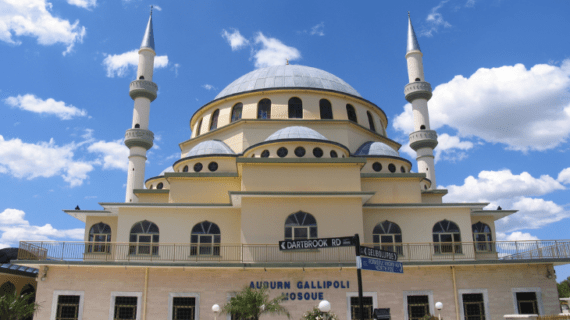
MULTIPOLYGON (((570 259, 570 241, 363 244, 398 253, 398 261, 570 259)), ((353 247, 280 251, 276 244, 196 245, 21 241, 18 260, 84 262, 351 263, 353 247)))

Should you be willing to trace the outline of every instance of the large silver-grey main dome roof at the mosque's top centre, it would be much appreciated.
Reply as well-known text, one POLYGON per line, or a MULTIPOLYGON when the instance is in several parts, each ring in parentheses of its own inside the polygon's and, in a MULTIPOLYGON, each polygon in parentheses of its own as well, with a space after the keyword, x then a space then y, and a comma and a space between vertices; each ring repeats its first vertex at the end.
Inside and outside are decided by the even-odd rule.
POLYGON ((348 83, 326 71, 299 65, 284 65, 257 69, 241 76, 218 93, 215 100, 236 93, 277 88, 325 89, 362 98, 348 83))

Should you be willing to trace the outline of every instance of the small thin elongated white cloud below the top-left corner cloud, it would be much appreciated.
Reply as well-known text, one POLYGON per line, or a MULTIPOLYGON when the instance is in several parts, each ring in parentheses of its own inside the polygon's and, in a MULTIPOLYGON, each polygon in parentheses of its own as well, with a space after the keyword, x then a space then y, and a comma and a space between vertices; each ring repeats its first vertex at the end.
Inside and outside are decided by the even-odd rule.
POLYGON ((33 94, 8 97, 4 102, 13 108, 20 108, 39 114, 53 114, 61 120, 70 120, 73 117, 84 117, 87 115, 87 111, 78 109, 72 105, 65 105, 63 101, 55 101, 52 98, 42 100, 33 94))

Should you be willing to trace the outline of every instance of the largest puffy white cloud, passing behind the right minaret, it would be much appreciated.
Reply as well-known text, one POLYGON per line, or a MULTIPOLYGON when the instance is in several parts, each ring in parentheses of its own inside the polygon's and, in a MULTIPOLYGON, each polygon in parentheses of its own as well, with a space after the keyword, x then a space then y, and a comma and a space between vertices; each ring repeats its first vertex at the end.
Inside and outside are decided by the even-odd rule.
MULTIPOLYGON (((570 135, 570 60, 561 66, 522 64, 480 68, 469 78, 455 76, 433 91, 432 129, 449 126, 458 136, 502 143, 508 149, 552 149, 570 135)), ((411 105, 394 128, 413 131, 411 105)))

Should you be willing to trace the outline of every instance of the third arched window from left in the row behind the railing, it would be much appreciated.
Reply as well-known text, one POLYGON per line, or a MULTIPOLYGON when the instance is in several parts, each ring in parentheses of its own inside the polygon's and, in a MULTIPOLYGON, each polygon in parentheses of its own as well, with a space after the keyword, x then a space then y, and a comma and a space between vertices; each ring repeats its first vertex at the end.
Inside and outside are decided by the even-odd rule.
POLYGON ((202 221, 192 228, 190 255, 220 255, 220 228, 210 221, 202 221))

